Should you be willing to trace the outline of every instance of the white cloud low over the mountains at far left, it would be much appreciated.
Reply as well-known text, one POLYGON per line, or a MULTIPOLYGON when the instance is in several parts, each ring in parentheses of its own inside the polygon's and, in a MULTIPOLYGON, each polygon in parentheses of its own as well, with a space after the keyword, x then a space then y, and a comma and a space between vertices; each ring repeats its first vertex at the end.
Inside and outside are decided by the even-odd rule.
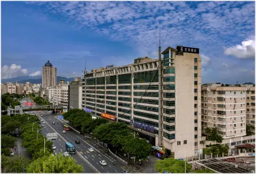
POLYGON ((27 73, 27 69, 22 69, 20 65, 11 64, 10 67, 8 65, 4 65, 1 69, 1 78, 26 76, 27 73))

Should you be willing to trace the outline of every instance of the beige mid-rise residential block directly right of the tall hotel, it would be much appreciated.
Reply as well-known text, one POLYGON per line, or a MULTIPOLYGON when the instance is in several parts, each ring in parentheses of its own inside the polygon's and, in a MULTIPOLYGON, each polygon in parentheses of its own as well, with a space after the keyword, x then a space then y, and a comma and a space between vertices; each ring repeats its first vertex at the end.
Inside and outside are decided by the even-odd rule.
POLYGON ((202 126, 218 127, 224 139, 246 135, 246 87, 208 84, 202 87, 202 126))

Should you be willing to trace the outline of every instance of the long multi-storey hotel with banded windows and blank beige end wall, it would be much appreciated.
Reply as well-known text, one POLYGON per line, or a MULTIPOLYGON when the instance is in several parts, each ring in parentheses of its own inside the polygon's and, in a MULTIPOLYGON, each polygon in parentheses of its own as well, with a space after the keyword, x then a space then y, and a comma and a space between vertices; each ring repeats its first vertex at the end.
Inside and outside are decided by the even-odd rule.
POLYGON ((160 61, 144 57, 85 71, 82 106, 98 117, 139 127, 139 134, 159 146, 159 156, 197 156, 204 147, 199 49, 168 47, 162 55, 160 61))

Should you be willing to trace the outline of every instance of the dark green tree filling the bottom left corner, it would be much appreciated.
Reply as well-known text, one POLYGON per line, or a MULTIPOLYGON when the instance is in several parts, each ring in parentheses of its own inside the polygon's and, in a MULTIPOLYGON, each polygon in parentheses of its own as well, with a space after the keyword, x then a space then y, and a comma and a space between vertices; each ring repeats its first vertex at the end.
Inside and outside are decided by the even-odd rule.
POLYGON ((2 163, 2 172, 5 173, 27 173, 27 167, 30 164, 30 160, 28 160, 25 156, 5 156, 2 155, 1 158, 2 163))

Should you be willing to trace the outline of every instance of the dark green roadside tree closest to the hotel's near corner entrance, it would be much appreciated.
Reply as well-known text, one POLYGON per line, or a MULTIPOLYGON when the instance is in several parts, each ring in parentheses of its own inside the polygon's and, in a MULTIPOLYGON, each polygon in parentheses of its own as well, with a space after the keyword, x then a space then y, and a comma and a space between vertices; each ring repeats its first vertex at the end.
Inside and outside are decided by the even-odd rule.
POLYGON ((123 146, 129 156, 135 156, 136 159, 145 159, 150 155, 151 144, 145 139, 139 139, 138 136, 134 138, 132 135, 126 136, 126 141, 123 146))

